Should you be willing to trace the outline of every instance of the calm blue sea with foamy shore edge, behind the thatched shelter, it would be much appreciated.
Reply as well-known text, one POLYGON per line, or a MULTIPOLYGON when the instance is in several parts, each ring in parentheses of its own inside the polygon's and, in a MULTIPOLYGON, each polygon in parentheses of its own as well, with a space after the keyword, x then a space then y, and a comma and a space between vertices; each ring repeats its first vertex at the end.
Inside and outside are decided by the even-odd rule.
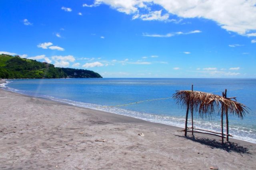
MULTIPOLYGON (((8 80, 0 86, 12 92, 47 98, 74 106, 108 111, 146 121, 184 127, 186 109, 172 95, 194 90, 227 97, 249 107, 243 119, 229 116, 233 138, 256 143, 256 79, 217 78, 66 78, 8 80)), ((191 119, 188 120, 191 126, 191 119)), ((225 121, 224 121, 225 124, 225 121)), ((194 126, 220 132, 218 112, 210 118, 194 115, 194 126)), ((226 129, 224 128, 224 131, 226 129)), ((182 132, 181 132, 182 133, 182 132)))

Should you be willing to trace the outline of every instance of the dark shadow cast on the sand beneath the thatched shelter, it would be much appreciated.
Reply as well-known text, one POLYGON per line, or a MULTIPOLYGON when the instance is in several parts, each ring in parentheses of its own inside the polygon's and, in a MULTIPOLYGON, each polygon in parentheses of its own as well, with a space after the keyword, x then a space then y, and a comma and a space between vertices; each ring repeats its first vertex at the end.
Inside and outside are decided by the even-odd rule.
POLYGON ((250 152, 248 151, 248 148, 238 145, 237 143, 234 143, 234 142, 226 142, 226 143, 222 144, 221 141, 216 141, 216 139, 209 139, 206 137, 195 137, 195 136, 185 137, 185 136, 180 136, 180 135, 177 135, 177 136, 184 137, 191 141, 201 143, 202 145, 207 145, 207 146, 211 147, 212 149, 216 148, 216 149, 226 150, 227 152, 250 154, 250 152))

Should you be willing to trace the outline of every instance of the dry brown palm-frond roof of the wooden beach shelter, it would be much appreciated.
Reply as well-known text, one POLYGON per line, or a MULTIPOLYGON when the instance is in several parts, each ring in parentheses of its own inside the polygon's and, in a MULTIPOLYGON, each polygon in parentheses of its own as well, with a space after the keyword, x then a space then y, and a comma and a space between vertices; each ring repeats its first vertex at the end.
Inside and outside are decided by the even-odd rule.
POLYGON ((245 105, 211 93, 180 90, 173 94, 173 98, 183 108, 189 105, 189 109, 196 111, 202 118, 220 113, 220 106, 223 106, 224 113, 234 114, 240 118, 248 113, 245 105))

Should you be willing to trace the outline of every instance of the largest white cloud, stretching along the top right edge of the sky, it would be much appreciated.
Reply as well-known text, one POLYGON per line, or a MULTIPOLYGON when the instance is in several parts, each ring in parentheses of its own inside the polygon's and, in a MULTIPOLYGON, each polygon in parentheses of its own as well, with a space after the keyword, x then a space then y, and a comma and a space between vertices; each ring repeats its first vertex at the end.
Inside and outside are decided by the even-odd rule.
POLYGON ((94 4, 83 6, 95 7, 100 4, 132 15, 133 19, 150 15, 152 6, 160 6, 160 10, 166 11, 164 15, 205 18, 240 35, 253 35, 252 31, 256 30, 255 0, 94 0, 94 4))

